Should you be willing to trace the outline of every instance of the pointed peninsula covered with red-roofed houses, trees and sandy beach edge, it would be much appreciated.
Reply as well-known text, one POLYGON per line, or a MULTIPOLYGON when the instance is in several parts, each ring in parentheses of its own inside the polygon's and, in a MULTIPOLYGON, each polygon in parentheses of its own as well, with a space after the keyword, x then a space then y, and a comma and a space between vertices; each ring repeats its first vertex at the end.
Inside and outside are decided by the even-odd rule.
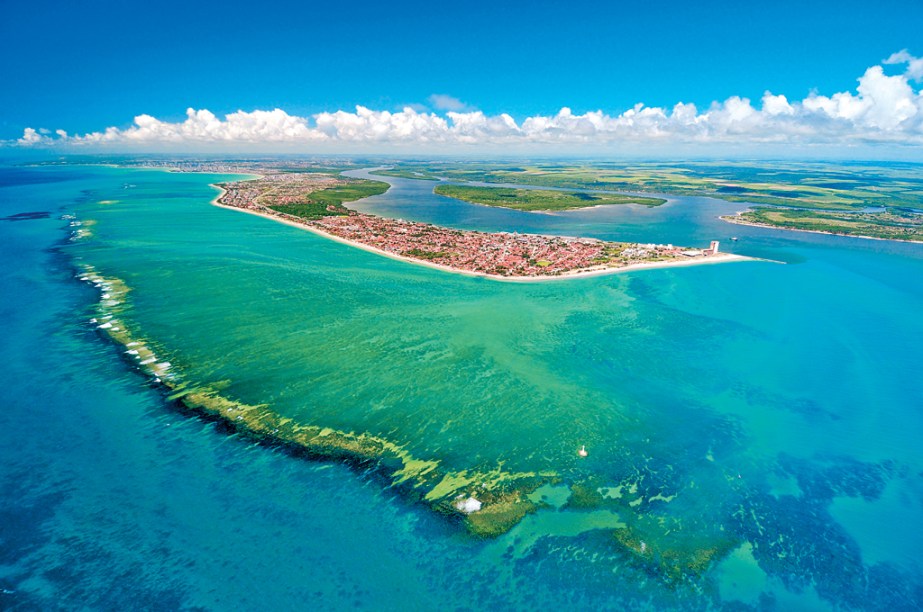
POLYGON ((359 213, 343 203, 382 193, 386 183, 316 173, 267 173, 216 185, 215 204, 273 218, 376 253, 505 280, 542 280, 748 259, 672 244, 463 231, 359 213))

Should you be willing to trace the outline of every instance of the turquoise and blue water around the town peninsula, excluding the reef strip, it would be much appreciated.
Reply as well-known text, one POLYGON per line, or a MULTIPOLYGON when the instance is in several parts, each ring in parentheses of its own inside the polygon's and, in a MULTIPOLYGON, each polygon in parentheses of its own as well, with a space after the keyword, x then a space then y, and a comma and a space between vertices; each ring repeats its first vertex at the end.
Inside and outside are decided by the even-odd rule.
POLYGON ((0 215, 49 216, 0 222, 0 607, 923 600, 923 246, 728 225, 740 205, 707 198, 536 215, 389 178, 356 206, 787 262, 499 283, 209 206, 227 178, 3 170, 0 215), (75 262, 125 281, 183 380, 447 472, 553 474, 546 505, 478 540, 377 470, 183 415, 88 323, 75 262))

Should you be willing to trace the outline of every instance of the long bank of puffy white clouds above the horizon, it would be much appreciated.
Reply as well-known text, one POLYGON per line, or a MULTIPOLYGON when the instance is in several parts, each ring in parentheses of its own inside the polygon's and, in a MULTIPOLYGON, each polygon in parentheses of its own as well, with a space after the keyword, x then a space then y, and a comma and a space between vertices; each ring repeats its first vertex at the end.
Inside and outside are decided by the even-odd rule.
POLYGON ((502 113, 486 115, 458 99, 434 94, 430 104, 444 116, 408 106, 399 112, 357 106, 311 117, 283 110, 237 111, 223 119, 201 109, 188 109, 181 122, 138 115, 127 128, 71 135, 58 129, 26 128, 18 146, 220 146, 310 145, 315 149, 357 147, 459 148, 529 147, 534 145, 612 146, 644 144, 923 144, 923 58, 899 51, 868 68, 855 93, 825 96, 812 92, 801 101, 767 91, 757 106, 732 96, 700 110, 694 104, 672 109, 637 104, 618 115, 602 111, 574 114, 562 108, 555 115, 536 115, 517 123, 502 113), (904 66, 894 76, 883 65, 904 66))

